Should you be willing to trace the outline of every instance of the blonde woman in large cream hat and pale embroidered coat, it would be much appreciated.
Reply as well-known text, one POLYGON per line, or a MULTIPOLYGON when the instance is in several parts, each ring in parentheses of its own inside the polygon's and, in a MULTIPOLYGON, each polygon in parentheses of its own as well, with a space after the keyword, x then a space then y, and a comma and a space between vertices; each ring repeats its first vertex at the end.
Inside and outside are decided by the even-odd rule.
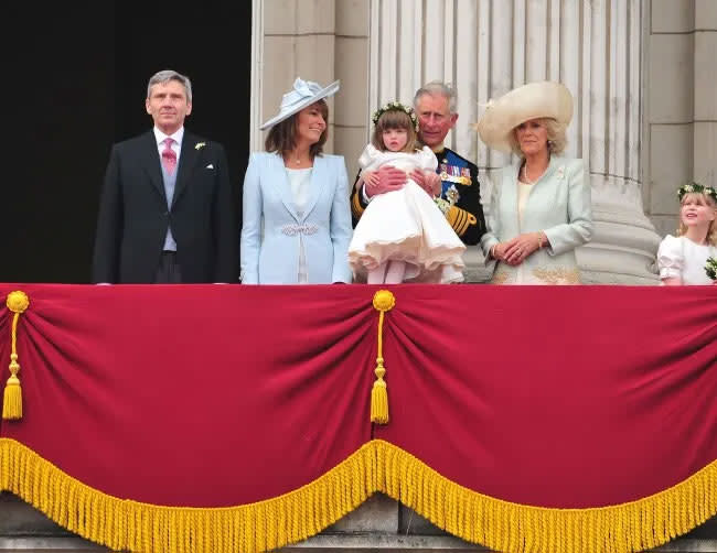
POLYGON ((532 83, 489 102, 478 131, 517 161, 494 180, 481 239, 493 284, 579 284, 575 249, 592 236, 582 160, 563 158, 572 97, 558 83, 532 83))

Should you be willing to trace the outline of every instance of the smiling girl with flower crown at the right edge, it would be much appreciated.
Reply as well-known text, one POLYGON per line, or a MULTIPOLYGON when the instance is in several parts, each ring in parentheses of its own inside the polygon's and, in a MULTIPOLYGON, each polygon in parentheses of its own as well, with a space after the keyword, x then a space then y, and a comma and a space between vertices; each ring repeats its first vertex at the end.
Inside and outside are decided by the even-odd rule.
POLYGON ((717 191, 700 184, 679 187, 679 229, 657 250, 662 284, 715 284, 705 270, 717 258, 717 191))

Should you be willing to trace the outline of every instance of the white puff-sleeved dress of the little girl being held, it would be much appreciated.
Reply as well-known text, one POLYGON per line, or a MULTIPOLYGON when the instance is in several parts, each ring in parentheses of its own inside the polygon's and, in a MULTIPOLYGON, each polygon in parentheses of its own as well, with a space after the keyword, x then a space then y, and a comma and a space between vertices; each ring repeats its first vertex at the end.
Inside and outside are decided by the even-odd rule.
MULTIPOLYGON (((415 169, 436 171, 436 154, 425 147, 416 153, 382 152, 368 144, 358 164, 362 171, 392 165, 409 174, 415 169)), ((387 260, 407 263, 406 282, 448 283, 463 280, 465 246, 432 198, 414 181, 395 192, 374 196, 364 210, 349 246, 349 263, 356 281, 387 260)))

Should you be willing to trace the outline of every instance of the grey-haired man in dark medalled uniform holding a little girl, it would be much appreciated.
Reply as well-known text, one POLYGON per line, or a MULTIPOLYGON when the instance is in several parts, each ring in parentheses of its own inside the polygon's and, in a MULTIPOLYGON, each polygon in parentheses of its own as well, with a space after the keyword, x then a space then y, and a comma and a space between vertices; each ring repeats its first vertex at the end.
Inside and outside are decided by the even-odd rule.
MULTIPOLYGON (((414 109, 418 116, 419 138, 438 159, 437 172, 442 182, 442 189, 440 197, 435 199, 436 205, 465 245, 478 243, 485 232, 478 167, 443 144, 448 131, 458 120, 456 91, 437 80, 428 83, 416 91, 414 109)), ((356 185, 351 193, 354 226, 372 197, 399 189, 406 184, 406 173, 395 167, 384 166, 376 171, 375 175, 375 178, 366 178, 367 175, 364 175, 361 184, 356 178, 356 185)), ((414 173, 411 177, 432 195, 430 184, 425 183, 420 175, 414 173)))

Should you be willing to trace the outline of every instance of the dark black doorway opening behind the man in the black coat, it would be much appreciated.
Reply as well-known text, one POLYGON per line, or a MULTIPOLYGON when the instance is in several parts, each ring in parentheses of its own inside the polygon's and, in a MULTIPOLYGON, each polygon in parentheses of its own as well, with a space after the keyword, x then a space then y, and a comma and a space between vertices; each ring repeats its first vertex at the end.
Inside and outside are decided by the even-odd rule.
MULTIPOLYGON (((249 148, 252 2, 3 9, 0 282, 89 282, 109 150, 151 128, 149 77, 192 80, 185 126, 224 143, 239 202, 249 148)), ((237 229, 238 240, 238 229, 237 229)))

